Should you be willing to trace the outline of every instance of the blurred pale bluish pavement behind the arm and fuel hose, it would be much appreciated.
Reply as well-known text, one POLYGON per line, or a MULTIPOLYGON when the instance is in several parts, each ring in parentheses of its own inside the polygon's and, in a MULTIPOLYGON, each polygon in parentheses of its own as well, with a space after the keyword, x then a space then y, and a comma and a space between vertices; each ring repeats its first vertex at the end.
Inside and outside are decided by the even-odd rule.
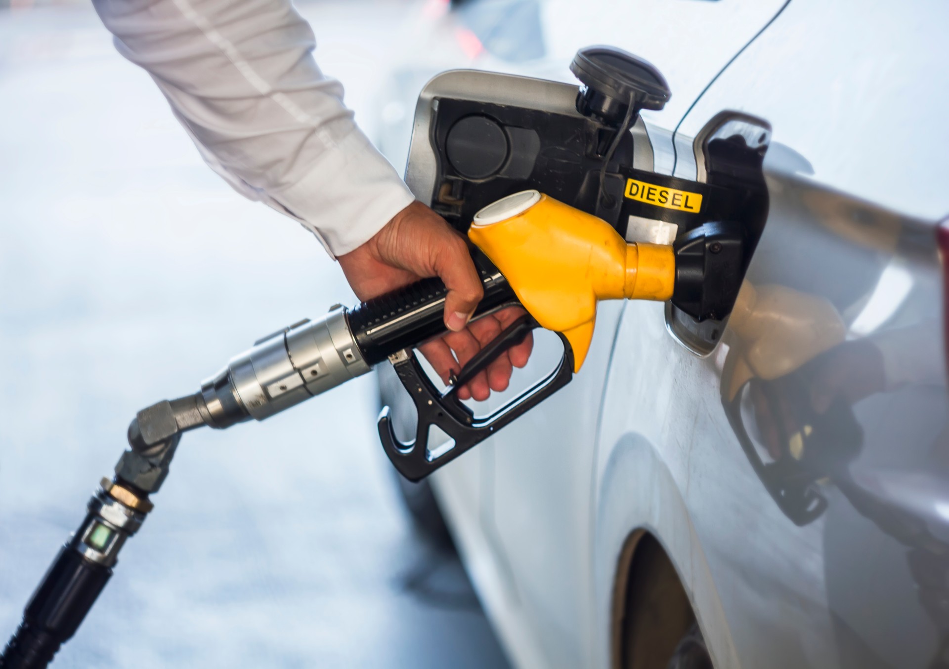
MULTIPOLYGON (((139 408, 353 300, 301 226, 205 167, 88 6, 19 4, 0 12, 0 635, 139 408)), ((418 8, 304 7, 363 125, 418 8)), ((400 506, 377 410, 367 376, 188 434, 54 666, 505 667, 457 556, 400 506)))

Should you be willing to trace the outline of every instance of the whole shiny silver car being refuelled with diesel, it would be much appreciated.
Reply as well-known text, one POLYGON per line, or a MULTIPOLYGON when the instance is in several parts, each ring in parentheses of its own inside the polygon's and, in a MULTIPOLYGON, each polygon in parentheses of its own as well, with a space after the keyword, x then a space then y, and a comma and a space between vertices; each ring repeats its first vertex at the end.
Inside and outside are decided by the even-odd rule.
MULTIPOLYGON (((747 243, 731 316, 603 303, 572 383, 438 471, 427 503, 406 485, 447 522, 513 664, 949 667, 947 27, 936 0, 473 0, 433 27, 506 73, 429 81, 410 145, 407 116, 381 119, 416 195, 456 225, 445 100, 577 117, 567 65, 592 44, 672 91, 621 168, 747 195, 729 212, 747 243)), ((401 67, 381 109, 456 64, 401 67)), ((537 160, 586 169, 553 153, 537 160)), ((610 222, 673 243, 689 224, 664 213, 610 222)), ((559 346, 539 336, 524 379, 559 346)), ((412 422, 391 374, 381 396, 412 422)))

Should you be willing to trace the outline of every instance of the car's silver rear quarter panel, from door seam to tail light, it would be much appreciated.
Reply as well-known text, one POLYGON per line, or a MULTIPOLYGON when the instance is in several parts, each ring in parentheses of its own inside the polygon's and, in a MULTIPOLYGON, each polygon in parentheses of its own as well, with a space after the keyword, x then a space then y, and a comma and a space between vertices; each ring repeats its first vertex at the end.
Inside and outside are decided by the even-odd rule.
MULTIPOLYGON (((630 440, 646 444, 642 468, 668 470, 687 520, 657 520, 630 493, 624 522, 665 537, 680 572, 698 574, 686 584, 716 660, 734 648, 745 666, 928 666, 946 647, 935 221, 949 213, 949 77, 927 50, 946 18, 937 3, 907 16, 891 4, 794 0, 679 129, 688 147, 723 109, 771 123, 769 215, 747 282, 830 305, 846 330, 790 371, 761 368, 738 384, 754 342, 734 328, 702 358, 648 320, 650 305, 623 314, 596 496, 615 495, 607 481, 630 440), (840 394, 818 402, 830 390, 840 394), (791 480, 804 474, 807 487, 791 480), (691 543, 676 538, 683 522, 691 543)), ((654 480, 647 501, 667 495, 654 480)), ((599 574, 619 551, 608 537, 622 532, 597 532, 599 574)))

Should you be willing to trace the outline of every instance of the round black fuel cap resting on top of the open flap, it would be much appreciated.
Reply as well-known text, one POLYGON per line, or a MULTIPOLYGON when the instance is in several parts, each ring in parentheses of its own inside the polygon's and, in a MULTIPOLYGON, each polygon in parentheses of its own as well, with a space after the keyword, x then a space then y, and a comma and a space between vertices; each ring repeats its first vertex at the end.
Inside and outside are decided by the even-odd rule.
POLYGON ((630 99, 635 118, 641 109, 661 109, 672 97, 655 65, 615 46, 585 46, 573 57, 570 71, 584 83, 577 111, 606 125, 623 123, 630 99))

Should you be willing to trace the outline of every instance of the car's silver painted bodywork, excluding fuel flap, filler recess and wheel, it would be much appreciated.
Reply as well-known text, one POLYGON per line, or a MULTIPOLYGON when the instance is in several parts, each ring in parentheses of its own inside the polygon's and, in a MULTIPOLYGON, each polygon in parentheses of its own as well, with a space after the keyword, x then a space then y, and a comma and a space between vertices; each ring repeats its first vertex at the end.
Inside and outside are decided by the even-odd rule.
MULTIPOLYGON (((693 137, 724 110, 771 123, 769 216, 749 267, 752 289, 743 290, 776 286, 830 305, 847 333, 816 359, 798 351, 790 371, 741 380, 754 342, 734 327, 698 355, 666 327, 662 305, 607 303, 584 370, 566 389, 437 472, 443 511, 517 666, 611 665, 617 565, 641 530, 679 571, 716 666, 925 666, 944 641, 947 626, 933 611, 949 596, 927 584, 949 572, 940 561, 949 479, 934 227, 949 213, 939 99, 949 85, 943 61, 917 45, 939 44, 949 22, 934 3, 912 16, 856 2, 752 5, 643 3, 623 9, 639 19, 635 32, 620 20, 587 24, 591 10, 576 32, 565 24, 549 40, 542 30, 543 59, 505 63, 565 79, 550 63, 564 44, 568 61, 576 38, 659 65, 676 105, 688 103, 643 114, 634 132, 649 140, 648 152, 638 143, 637 160, 656 172, 695 179, 693 137), (714 47, 698 23, 681 19, 696 12, 714 47), (744 21, 726 48, 722 17, 735 16, 744 21), (866 358, 874 349, 879 357, 866 358), (808 454, 813 443, 838 448, 838 428, 859 438, 843 461, 818 459, 828 471, 807 488, 813 517, 790 514, 791 497, 775 497, 762 474, 775 470, 755 459, 769 464, 768 435, 791 424, 757 410, 755 393, 809 402, 807 384, 822 371, 839 370, 846 382, 874 365, 884 389, 812 416, 816 434, 831 437, 811 439, 808 454), (813 506, 817 497, 825 507, 813 506)), ((565 11, 541 4, 540 16, 555 10, 565 11)), ((548 348, 539 342, 528 375, 546 371, 548 348)), ((795 351, 791 342, 781 353, 795 351)))

